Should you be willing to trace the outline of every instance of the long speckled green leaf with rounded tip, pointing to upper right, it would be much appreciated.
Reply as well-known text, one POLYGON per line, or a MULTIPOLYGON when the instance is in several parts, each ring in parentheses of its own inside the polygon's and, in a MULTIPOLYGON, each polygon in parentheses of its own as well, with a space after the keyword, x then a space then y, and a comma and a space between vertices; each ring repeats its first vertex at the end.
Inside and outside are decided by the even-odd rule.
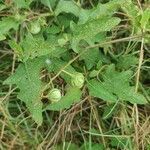
POLYGON ((100 32, 107 32, 118 25, 120 19, 117 17, 111 18, 98 18, 92 21, 87 22, 86 24, 76 25, 75 23, 71 24, 71 29, 73 32, 72 38, 72 48, 75 52, 78 52, 77 46, 81 40, 91 40, 100 32), (88 32, 87 32, 88 31, 88 32))

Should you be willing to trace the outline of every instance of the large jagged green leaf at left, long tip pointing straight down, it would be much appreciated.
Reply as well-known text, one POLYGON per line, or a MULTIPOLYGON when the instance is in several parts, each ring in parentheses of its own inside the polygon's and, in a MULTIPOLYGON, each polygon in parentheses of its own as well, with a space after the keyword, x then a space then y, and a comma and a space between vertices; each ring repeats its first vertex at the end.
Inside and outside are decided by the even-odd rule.
POLYGON ((18 98, 22 100, 35 122, 42 123, 42 102, 40 71, 44 67, 45 58, 28 60, 26 64, 20 64, 15 74, 10 76, 4 84, 15 84, 20 89, 18 98))

